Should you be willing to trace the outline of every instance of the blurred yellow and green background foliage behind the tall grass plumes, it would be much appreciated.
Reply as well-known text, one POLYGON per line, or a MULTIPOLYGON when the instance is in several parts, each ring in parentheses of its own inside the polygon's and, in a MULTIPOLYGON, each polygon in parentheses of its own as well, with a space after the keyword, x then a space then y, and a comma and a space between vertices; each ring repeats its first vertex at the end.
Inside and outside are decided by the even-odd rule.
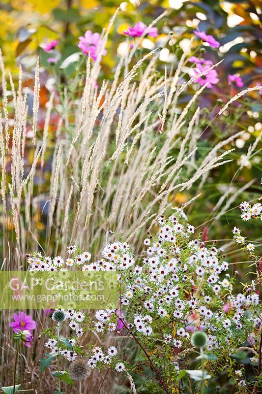
MULTIPOLYGON (((215 206, 221 196, 224 196, 221 203, 223 207, 223 204, 225 205, 239 188, 252 180, 252 186, 235 200, 233 199, 229 208, 239 204, 242 199, 251 200, 261 196, 261 142, 258 143, 256 152, 251 158, 245 159, 248 146, 262 131, 260 95, 258 92, 251 92, 211 124, 210 120, 214 118, 223 103, 241 90, 228 85, 228 74, 239 73, 243 79, 244 88, 255 86, 257 83, 262 84, 261 0, 1 0, 0 47, 5 65, 13 76, 18 76, 18 66, 22 66, 27 78, 23 84, 31 88, 31 98, 36 56, 40 56, 40 127, 44 125, 46 103, 50 97, 50 91, 54 89, 54 77, 56 79, 59 75, 59 82, 66 86, 73 86, 74 90, 75 85, 72 85, 70 81, 78 72, 84 75, 85 62, 82 62, 82 69, 78 68, 79 65, 75 67, 74 64, 63 70, 60 68, 65 59, 79 52, 78 37, 87 30, 101 33, 102 29, 107 27, 117 7, 120 7, 120 10, 109 34, 107 54, 101 62, 100 82, 103 78, 109 80, 113 78, 117 56, 124 49, 123 30, 138 21, 143 21, 148 25, 165 10, 168 11, 167 15, 156 25, 159 36, 155 39, 145 38, 138 50, 140 57, 148 50, 159 49, 159 75, 161 73, 163 75, 165 66, 170 72, 172 68, 174 71, 177 60, 183 52, 188 55, 200 54, 206 59, 211 59, 213 63, 224 59, 218 67, 219 84, 212 89, 205 89, 204 94, 201 95, 200 126, 201 130, 205 131, 198 141, 199 152, 204 155, 210 150, 210 144, 212 146, 221 138, 226 138, 237 131, 246 132, 235 142, 223 147, 223 149, 236 148, 231 154, 233 162, 223 169, 212 171, 205 185, 202 186, 201 198, 190 207, 190 219, 197 225, 206 222, 210 231, 210 239, 231 239, 233 226, 243 224, 243 222, 240 224, 239 210, 233 209, 214 221, 218 212, 215 206), (204 30, 215 36, 221 43, 219 50, 214 51, 208 46, 204 46, 203 50, 199 46, 199 41, 195 39, 191 52, 188 52, 192 32, 197 26, 201 31, 204 30), (52 39, 59 40, 58 48, 54 51, 59 57, 56 66, 48 64, 47 59, 50 55, 41 48, 41 45, 52 39), (240 165, 242 169, 238 171, 240 165)), ((186 71, 185 68, 184 78, 188 79, 186 71)), ((57 89, 59 93, 59 84, 57 89)), ((70 90, 69 86, 68 89, 70 90)), ((181 107, 194 94, 194 87, 190 89, 192 90, 181 96, 179 103, 181 107)), ((57 94, 57 103, 60 99, 61 97, 57 94)), ((52 124, 57 123, 57 115, 52 116, 51 133, 52 124)), ((29 153, 28 160, 29 162, 32 160, 29 153)), ((50 168, 46 168, 47 178, 49 171, 50 168)), ((195 190, 196 194, 199 192, 198 187, 195 190)), ((176 193, 170 196, 170 201, 180 204, 192 197, 192 193, 176 193)), ((247 223, 245 226, 249 231, 248 235, 261 241, 261 225, 258 223, 257 228, 254 228, 253 224, 247 223)), ((39 230, 44 231, 44 226, 40 221, 38 227, 39 230)))

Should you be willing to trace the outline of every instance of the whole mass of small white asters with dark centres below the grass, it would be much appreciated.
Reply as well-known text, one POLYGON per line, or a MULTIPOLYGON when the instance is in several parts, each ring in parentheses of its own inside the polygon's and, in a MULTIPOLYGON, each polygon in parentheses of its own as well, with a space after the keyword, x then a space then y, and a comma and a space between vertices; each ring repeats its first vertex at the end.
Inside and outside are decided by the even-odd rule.
MULTIPOLYGON (((45 344, 50 355, 63 356, 68 361, 84 356, 89 369, 136 372, 137 363, 126 363, 121 347, 114 346, 120 334, 139 345, 140 362, 155 368, 156 381, 164 388, 168 377, 176 379, 179 369, 188 367, 189 355, 192 359, 198 348, 192 334, 202 332, 206 334, 205 351, 214 357, 209 363, 212 370, 241 346, 252 347, 251 361, 256 365, 262 328, 256 284, 245 286, 242 293, 234 293, 235 277, 228 272, 229 264, 216 243, 207 246, 201 234, 195 236, 195 228, 188 223, 182 209, 175 208, 169 218, 161 216, 158 223, 158 233, 154 236, 148 232, 144 240, 146 255, 141 263, 125 242, 107 244, 102 259, 97 262, 91 262, 90 254, 81 252, 75 245, 68 247, 66 260, 39 254, 29 257, 32 269, 36 269, 35 265, 44 269, 40 265, 45 262, 46 269, 51 266, 67 270, 65 265, 73 265, 90 271, 117 271, 118 275, 117 310, 99 309, 91 317, 68 309, 60 311, 62 320, 54 316, 59 310, 54 312, 53 320, 58 322, 59 318, 59 322, 68 324, 71 339, 69 344, 60 340, 58 346, 58 337, 52 335, 45 344), (72 262, 68 264, 70 259, 72 262), (102 338, 110 337, 112 346, 105 350, 98 346, 90 348, 91 344, 81 347, 81 337, 89 330, 102 338)), ((236 239, 239 230, 234 231, 236 239)), ((243 377, 235 376, 235 380, 239 385, 246 384, 243 377)))

